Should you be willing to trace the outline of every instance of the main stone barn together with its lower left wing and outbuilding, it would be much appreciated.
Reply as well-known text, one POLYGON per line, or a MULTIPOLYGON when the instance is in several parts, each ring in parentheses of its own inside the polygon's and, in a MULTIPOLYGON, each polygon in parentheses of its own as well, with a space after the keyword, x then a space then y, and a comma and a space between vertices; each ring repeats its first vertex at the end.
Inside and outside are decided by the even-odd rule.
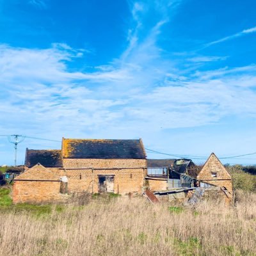
POLYGON ((27 149, 25 163, 28 170, 14 180, 13 202, 38 202, 42 195, 51 201, 61 179, 68 193, 141 193, 146 172, 142 140, 63 138, 61 150, 27 149))

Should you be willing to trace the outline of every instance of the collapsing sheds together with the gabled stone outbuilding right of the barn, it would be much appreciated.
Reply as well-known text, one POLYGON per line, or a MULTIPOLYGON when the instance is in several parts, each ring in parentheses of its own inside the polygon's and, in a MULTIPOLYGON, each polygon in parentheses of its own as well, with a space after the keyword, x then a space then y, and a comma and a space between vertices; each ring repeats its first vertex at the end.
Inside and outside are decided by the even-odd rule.
POLYGON ((210 196, 227 204, 232 201, 232 179, 214 153, 202 170, 190 159, 148 159, 147 166, 145 183, 158 200, 188 198, 192 203, 210 196))

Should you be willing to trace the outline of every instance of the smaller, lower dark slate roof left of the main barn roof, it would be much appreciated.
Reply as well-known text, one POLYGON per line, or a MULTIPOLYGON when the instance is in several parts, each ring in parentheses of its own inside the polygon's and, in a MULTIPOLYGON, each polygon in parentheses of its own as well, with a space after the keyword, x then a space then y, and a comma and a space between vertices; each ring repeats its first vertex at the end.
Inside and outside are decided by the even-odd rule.
POLYGON ((31 168, 40 163, 45 167, 62 167, 61 150, 26 150, 25 165, 31 168))

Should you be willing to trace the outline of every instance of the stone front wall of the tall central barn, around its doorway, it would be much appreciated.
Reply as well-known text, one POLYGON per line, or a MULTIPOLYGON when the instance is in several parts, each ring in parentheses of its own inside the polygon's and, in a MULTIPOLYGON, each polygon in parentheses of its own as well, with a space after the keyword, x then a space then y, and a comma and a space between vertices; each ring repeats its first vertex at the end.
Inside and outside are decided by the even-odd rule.
POLYGON ((99 175, 114 175, 114 193, 141 193, 145 166, 145 159, 63 159, 69 192, 98 193, 99 175))

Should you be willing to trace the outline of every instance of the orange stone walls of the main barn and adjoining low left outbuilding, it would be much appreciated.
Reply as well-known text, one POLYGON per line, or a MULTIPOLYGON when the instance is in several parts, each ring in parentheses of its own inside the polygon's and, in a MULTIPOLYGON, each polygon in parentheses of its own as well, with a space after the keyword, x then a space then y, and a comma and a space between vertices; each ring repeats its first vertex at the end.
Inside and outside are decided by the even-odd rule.
POLYGON ((98 193, 99 175, 114 176, 114 193, 123 195, 129 192, 141 193, 146 160, 63 159, 63 166, 66 169, 45 168, 41 164, 36 164, 16 177, 13 185, 13 202, 38 203, 63 200, 65 195, 60 193, 61 176, 68 177, 68 193, 81 191, 98 193))

